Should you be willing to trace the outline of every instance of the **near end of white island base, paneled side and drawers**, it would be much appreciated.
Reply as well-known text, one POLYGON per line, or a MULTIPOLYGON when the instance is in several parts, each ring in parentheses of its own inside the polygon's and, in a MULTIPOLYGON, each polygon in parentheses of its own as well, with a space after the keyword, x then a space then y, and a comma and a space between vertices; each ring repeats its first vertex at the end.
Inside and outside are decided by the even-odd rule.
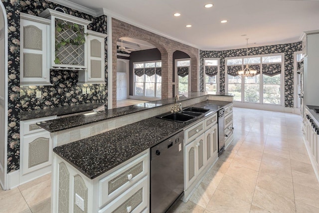
POLYGON ((52 190, 51 212, 76 212, 78 207, 75 205, 75 194, 84 195, 80 196, 85 203, 84 212, 81 211, 83 213, 109 213, 127 210, 130 207, 132 211, 147 211, 150 203, 149 156, 149 150, 146 150, 92 180, 67 161, 53 154, 52 189, 57 190, 52 190), (144 172, 132 177, 130 168, 134 169, 134 165, 139 165, 141 162, 144 172), (127 175, 126 171, 130 174, 127 175), (115 191, 110 191, 110 188, 102 189, 119 181, 122 173, 124 176, 127 175, 127 183, 116 188, 115 191), (106 196, 105 193, 109 193, 108 199, 103 198, 106 196))

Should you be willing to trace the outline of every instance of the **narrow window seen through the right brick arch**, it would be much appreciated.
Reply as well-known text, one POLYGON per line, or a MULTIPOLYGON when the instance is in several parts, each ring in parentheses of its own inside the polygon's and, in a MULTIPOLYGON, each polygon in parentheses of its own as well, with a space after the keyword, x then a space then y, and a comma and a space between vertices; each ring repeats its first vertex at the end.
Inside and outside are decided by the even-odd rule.
POLYGON ((188 92, 190 88, 190 59, 176 59, 175 72, 178 76, 178 92, 188 92))

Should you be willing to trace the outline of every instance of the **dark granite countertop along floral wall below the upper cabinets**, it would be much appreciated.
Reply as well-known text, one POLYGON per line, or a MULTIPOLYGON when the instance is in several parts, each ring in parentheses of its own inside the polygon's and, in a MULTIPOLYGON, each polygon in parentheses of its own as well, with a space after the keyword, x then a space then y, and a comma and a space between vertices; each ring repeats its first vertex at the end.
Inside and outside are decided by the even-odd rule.
POLYGON ((62 106, 48 109, 37 109, 32 111, 24 111, 20 113, 20 120, 30 120, 35 118, 44 118, 48 116, 61 116, 68 115, 79 112, 91 111, 99 106, 102 106, 103 103, 89 103, 89 104, 78 104, 72 106, 62 106))

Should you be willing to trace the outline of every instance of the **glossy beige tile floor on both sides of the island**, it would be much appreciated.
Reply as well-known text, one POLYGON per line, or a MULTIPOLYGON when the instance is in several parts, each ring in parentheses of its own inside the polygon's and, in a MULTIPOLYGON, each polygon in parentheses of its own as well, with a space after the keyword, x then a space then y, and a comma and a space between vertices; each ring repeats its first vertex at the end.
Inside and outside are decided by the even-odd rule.
MULTIPOLYGON (((302 141, 301 117, 234 108, 235 140, 174 213, 319 213, 319 183, 302 141)), ((0 191, 0 213, 49 213, 46 175, 0 191)))

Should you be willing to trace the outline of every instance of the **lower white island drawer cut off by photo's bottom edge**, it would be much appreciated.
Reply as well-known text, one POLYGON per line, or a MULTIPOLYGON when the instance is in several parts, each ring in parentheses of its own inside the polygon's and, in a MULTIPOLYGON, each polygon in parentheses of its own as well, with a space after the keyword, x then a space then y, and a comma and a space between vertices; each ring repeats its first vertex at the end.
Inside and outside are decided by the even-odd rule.
POLYGON ((148 207, 148 176, 105 206, 99 213, 141 213, 148 207))

